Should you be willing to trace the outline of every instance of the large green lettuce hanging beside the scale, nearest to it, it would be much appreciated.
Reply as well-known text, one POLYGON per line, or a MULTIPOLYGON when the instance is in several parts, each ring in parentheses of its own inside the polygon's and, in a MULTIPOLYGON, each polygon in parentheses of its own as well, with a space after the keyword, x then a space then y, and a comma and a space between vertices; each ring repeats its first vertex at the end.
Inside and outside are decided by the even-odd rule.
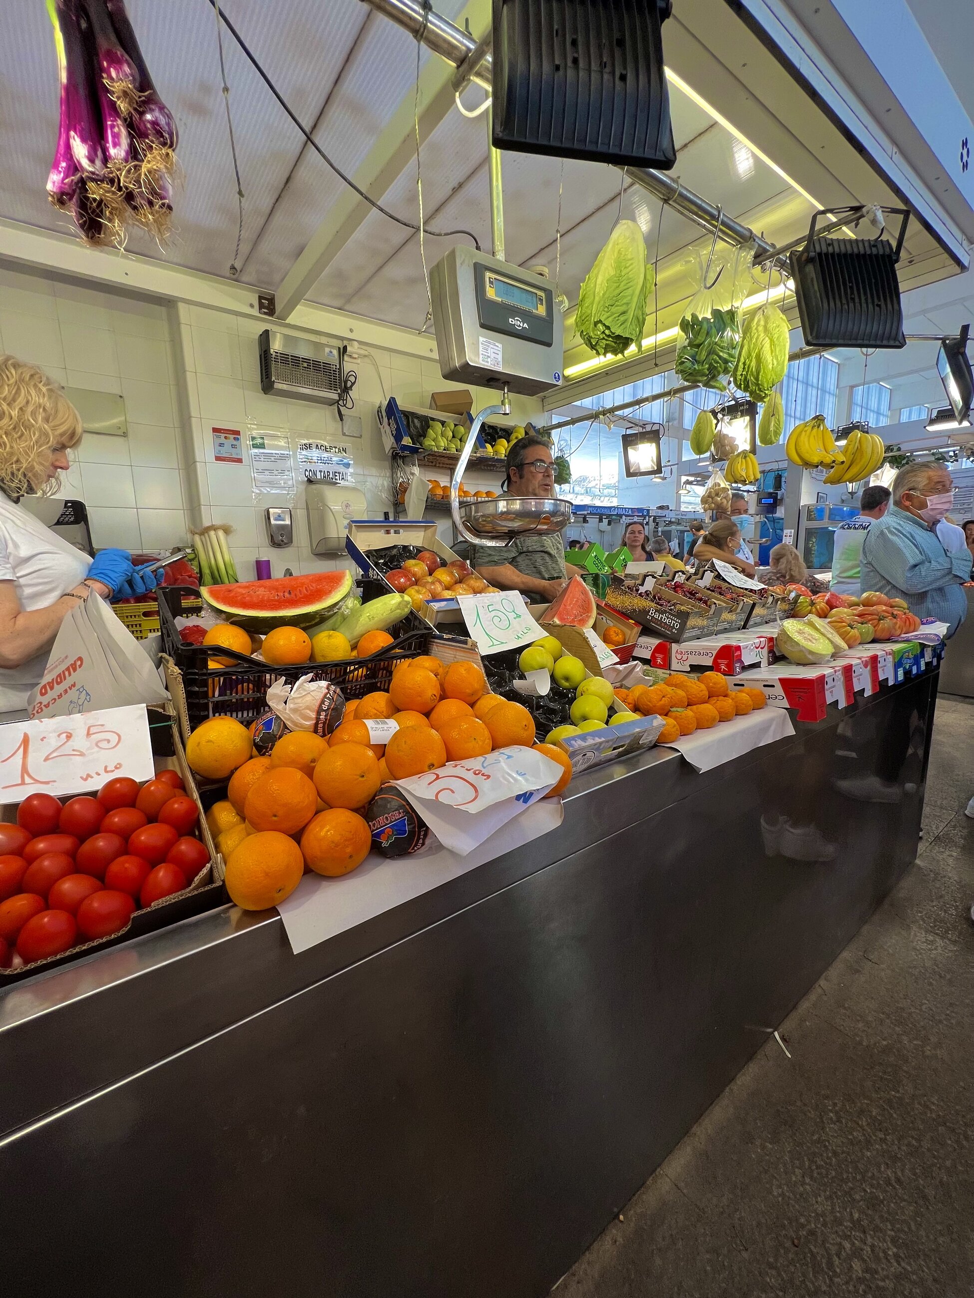
POLYGON ((643 231, 635 221, 617 222, 578 295, 575 330, 586 347, 596 356, 622 356, 634 344, 642 350, 653 283, 643 231))

